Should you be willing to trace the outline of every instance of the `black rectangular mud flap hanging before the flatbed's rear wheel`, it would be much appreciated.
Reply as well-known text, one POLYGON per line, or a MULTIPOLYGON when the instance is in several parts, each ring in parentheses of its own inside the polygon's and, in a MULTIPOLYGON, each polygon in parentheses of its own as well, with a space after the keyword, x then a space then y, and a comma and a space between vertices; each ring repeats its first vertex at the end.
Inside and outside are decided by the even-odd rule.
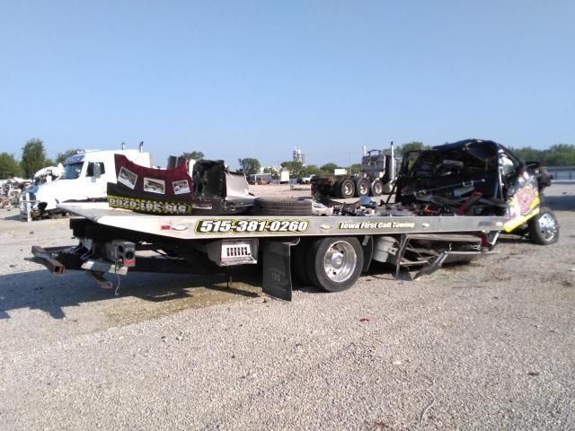
POLYGON ((263 283, 265 294, 291 301, 291 252, 295 241, 266 241, 263 243, 263 283))

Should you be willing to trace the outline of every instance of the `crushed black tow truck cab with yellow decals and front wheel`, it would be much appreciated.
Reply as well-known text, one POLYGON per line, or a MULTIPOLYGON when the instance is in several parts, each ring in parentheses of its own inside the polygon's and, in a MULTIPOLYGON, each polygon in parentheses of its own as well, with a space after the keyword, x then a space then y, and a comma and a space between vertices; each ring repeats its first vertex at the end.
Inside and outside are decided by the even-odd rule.
POLYGON ((465 139, 403 154, 395 202, 420 215, 505 216, 506 233, 556 242, 559 224, 542 207, 550 181, 503 145, 465 139))

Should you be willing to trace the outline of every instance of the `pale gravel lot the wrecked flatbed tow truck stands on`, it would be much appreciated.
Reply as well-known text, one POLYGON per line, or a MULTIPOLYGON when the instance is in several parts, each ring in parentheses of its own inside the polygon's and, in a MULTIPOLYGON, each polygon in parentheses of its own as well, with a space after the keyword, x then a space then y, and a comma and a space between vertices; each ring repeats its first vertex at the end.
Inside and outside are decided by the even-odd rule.
POLYGON ((553 246, 291 303, 255 268, 229 289, 130 274, 115 297, 24 260, 75 243, 66 219, 2 210, 0 429, 575 429, 575 184, 548 205, 553 246))

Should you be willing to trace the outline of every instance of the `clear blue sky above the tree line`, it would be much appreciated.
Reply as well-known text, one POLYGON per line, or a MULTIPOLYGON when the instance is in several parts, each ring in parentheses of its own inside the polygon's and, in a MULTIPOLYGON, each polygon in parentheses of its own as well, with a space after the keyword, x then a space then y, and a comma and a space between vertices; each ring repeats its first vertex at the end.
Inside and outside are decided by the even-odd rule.
POLYGON ((575 1, 0 0, 0 152, 575 143, 575 1))

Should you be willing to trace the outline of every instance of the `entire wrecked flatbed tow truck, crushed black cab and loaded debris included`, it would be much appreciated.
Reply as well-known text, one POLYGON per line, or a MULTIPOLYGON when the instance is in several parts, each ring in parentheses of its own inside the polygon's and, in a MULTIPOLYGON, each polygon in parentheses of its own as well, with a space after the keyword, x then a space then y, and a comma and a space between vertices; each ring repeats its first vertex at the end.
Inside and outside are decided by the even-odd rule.
POLYGON ((81 216, 70 220, 78 243, 35 246, 32 259, 57 275, 66 268, 84 269, 109 288, 114 286, 107 274, 124 276, 128 270, 226 273, 236 265, 261 263, 263 292, 290 300, 294 282, 346 290, 373 261, 394 265, 396 276, 401 268, 417 268, 414 277, 420 277, 446 263, 490 256, 501 232, 543 245, 559 237, 553 212, 541 206, 543 190, 535 176, 491 141, 404 154, 393 204, 365 196, 255 198, 243 191, 232 201, 222 192, 226 180, 234 184, 227 189, 243 190, 245 178, 226 177, 218 163, 206 163, 203 177, 196 171, 190 177, 153 176, 138 169, 130 166, 128 176, 121 169, 117 173, 129 179, 125 182, 139 203, 130 204, 138 198, 114 186, 109 192, 117 194, 109 195, 108 203, 61 205, 81 216), (142 181, 138 191, 140 177, 151 180, 142 181), (217 190, 205 194, 215 189, 204 181, 199 191, 202 178, 217 178, 217 190), (164 199, 171 207, 155 208, 158 201, 151 194, 170 187, 164 199), (195 198, 178 200, 178 192, 195 198), (186 202, 190 207, 180 212, 177 206, 186 202))

